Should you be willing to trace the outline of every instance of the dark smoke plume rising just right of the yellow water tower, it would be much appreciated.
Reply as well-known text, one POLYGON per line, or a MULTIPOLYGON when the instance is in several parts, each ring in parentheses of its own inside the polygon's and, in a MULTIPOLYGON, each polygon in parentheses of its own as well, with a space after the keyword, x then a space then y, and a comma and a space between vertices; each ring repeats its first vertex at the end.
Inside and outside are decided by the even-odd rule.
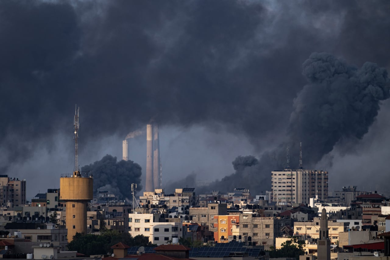
POLYGON ((94 194, 98 191, 113 192, 119 199, 131 198, 131 183, 137 183, 137 191, 142 190, 141 166, 128 160, 120 160, 106 155, 93 164, 85 165, 82 171, 90 171, 94 177, 94 194))

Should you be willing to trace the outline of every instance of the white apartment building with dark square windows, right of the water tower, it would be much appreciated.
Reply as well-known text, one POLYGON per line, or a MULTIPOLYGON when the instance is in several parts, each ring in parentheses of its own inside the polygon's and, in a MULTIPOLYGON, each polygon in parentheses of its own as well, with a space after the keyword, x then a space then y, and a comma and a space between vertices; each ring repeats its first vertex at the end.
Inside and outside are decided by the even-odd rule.
POLYGON ((129 233, 132 237, 144 235, 153 244, 167 244, 172 238, 180 238, 183 221, 181 218, 161 219, 160 214, 129 214, 129 233), (166 222, 172 221, 172 222, 166 222), (175 222, 174 222, 175 221, 175 222))

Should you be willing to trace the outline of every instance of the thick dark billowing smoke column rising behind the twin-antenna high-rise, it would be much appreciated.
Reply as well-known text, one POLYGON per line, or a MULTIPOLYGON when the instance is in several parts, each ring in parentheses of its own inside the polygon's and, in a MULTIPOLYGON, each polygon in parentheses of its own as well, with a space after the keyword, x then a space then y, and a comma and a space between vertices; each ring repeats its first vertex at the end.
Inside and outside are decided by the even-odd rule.
POLYGON ((222 191, 239 185, 254 192, 269 189, 270 173, 286 166, 285 149, 290 146, 290 164, 299 163, 303 143, 303 167, 314 167, 339 142, 361 139, 378 114, 381 100, 389 98, 386 69, 366 62, 356 68, 328 53, 312 53, 303 63, 308 84, 294 100, 287 139, 260 158, 237 157, 236 173, 212 183, 207 189, 222 191))

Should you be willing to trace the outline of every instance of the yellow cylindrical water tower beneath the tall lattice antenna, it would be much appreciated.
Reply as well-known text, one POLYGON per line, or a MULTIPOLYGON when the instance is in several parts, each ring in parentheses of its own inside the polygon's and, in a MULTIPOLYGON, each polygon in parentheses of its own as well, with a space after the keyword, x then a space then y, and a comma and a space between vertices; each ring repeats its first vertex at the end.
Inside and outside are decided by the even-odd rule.
POLYGON ((93 178, 80 171, 60 178, 60 199, 66 201, 68 241, 78 233, 87 234, 87 204, 93 199, 93 178))

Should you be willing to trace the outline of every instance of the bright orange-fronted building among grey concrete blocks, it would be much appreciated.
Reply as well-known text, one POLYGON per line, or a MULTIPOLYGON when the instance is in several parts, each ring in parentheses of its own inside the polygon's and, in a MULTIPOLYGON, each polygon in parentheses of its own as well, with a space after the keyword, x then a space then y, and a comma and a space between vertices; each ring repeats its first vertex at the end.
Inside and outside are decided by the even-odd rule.
POLYGON ((218 243, 227 243, 228 237, 239 235, 239 215, 215 215, 216 223, 214 223, 214 240, 218 243))

